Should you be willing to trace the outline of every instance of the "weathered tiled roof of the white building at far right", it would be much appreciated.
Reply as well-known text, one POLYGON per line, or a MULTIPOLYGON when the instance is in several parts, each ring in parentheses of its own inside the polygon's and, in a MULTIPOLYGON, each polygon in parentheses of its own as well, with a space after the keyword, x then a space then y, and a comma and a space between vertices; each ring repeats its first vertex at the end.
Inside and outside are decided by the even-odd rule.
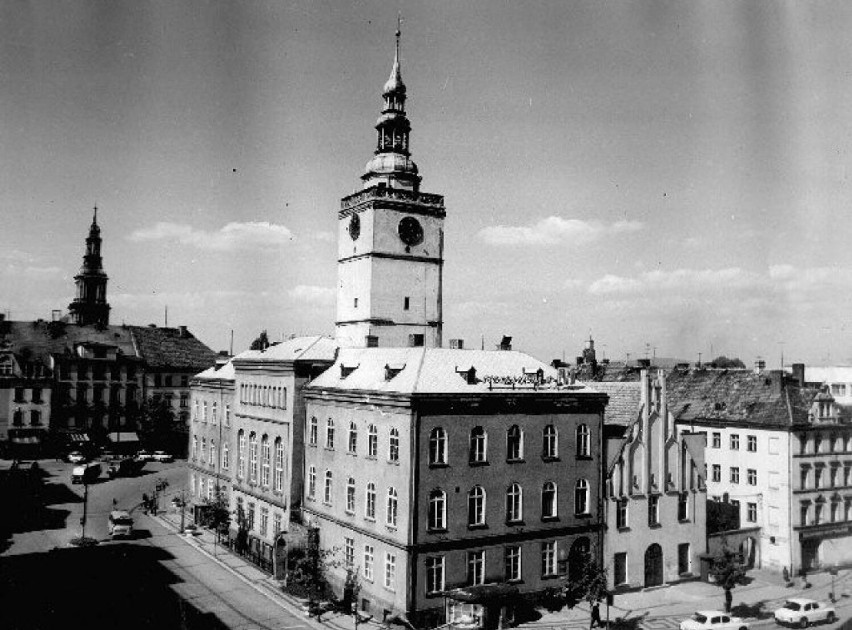
POLYGON ((789 426, 805 423, 818 390, 750 370, 674 370, 666 379, 668 409, 678 422, 789 426), (773 381, 773 379, 776 379, 773 381))

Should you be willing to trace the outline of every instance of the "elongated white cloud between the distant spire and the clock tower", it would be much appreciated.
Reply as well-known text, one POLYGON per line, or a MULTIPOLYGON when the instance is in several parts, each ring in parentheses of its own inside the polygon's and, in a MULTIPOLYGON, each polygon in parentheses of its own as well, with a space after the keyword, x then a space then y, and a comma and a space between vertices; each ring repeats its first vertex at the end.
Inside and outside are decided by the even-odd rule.
POLYGON ((238 249, 276 249, 295 237, 283 225, 268 221, 228 223, 217 231, 199 230, 184 223, 159 221, 151 227, 140 228, 127 237, 131 241, 176 241, 183 245, 210 251, 238 249))

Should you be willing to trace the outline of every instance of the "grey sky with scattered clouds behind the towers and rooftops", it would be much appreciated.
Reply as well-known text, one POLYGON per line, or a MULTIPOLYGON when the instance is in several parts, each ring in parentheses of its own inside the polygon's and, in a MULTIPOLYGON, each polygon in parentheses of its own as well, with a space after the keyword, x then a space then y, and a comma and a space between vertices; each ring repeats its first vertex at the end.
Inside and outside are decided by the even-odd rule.
POLYGON ((333 334, 397 11, 444 338, 852 362, 852 4, 0 3, 0 310, 333 334))

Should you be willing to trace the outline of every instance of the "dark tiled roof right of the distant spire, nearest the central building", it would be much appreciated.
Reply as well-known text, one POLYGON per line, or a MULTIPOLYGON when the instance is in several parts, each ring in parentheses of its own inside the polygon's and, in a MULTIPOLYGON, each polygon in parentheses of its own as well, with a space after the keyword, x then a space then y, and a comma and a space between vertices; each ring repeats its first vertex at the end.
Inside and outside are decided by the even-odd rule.
POLYGON ((128 326, 139 356, 148 367, 201 370, 216 363, 216 353, 181 328, 128 326))

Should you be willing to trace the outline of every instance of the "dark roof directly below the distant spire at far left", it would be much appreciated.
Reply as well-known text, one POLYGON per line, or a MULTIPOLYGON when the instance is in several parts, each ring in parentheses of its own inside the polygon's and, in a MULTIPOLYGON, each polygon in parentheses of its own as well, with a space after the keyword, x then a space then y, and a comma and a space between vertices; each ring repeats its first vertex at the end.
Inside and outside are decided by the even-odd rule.
POLYGON ((48 369, 51 355, 72 354, 75 346, 81 343, 117 346, 125 356, 136 356, 130 330, 123 326, 3 321, 0 322, 0 343, 7 345, 19 363, 41 363, 48 369))

